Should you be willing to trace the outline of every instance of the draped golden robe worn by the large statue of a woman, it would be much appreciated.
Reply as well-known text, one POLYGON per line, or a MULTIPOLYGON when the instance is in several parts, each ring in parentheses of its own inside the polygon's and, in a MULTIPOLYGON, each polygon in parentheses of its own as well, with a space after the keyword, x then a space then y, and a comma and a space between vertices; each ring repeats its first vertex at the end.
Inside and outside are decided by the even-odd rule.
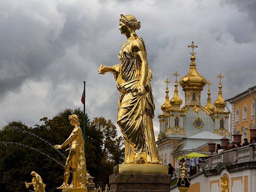
POLYGON ((141 64, 136 60, 136 53, 132 51, 134 40, 142 42, 146 54, 142 38, 132 36, 123 44, 118 55, 121 64, 114 66, 114 77, 119 90, 117 123, 124 136, 124 163, 162 164, 156 148, 152 122, 155 109, 150 85, 152 74, 148 66, 146 94, 139 95, 141 64))

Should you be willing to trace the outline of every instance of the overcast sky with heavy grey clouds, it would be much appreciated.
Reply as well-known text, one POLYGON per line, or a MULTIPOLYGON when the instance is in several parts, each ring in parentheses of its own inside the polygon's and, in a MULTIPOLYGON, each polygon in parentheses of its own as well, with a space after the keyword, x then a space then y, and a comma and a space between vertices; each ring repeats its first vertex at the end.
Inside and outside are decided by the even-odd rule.
MULTIPOLYGON (((164 80, 171 81, 172 98, 172 74, 178 71, 180 80, 188 73, 192 40, 197 70, 213 83, 212 104, 219 73, 224 99, 256 84, 255 10, 255 0, 0 0, 0 128, 16 120, 34 126, 65 108, 82 108, 83 81, 90 120, 116 122, 114 77, 97 69, 119 63, 126 41, 118 30, 120 14, 133 14, 153 73, 157 136, 164 80)), ((179 96, 184 101, 180 86, 179 96)))

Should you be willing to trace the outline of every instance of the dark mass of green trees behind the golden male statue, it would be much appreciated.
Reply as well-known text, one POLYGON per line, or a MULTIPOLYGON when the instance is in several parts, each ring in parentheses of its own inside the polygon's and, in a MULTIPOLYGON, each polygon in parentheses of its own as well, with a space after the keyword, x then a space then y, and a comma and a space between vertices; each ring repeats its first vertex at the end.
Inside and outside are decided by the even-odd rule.
MULTIPOLYGON (((42 177, 47 192, 58 192, 63 182, 68 152, 55 150, 62 144, 73 127, 68 116, 76 114, 83 127, 83 112, 80 108, 65 109, 52 119, 44 117, 42 125, 28 127, 22 122, 10 122, 0 130, 0 189, 4 192, 28 191, 24 182, 30 182, 34 170, 42 177), (62 165, 60 165, 62 164, 62 165)), ((123 138, 117 135, 116 126, 103 117, 92 123, 86 114, 86 168, 95 177, 96 184, 108 184, 113 166, 124 161, 123 138)), ((72 177, 70 177, 72 179, 72 177)), ((71 182, 71 181, 70 181, 71 182)))

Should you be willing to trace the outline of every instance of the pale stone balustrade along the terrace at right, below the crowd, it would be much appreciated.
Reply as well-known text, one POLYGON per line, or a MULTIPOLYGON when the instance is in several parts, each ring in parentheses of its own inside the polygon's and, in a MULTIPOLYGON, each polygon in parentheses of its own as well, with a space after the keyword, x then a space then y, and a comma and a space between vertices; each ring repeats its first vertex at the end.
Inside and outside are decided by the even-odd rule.
POLYGON ((256 143, 247 146, 234 148, 209 156, 209 159, 204 160, 197 167, 197 173, 204 170, 215 169, 220 163, 240 164, 244 162, 256 162, 256 143))

